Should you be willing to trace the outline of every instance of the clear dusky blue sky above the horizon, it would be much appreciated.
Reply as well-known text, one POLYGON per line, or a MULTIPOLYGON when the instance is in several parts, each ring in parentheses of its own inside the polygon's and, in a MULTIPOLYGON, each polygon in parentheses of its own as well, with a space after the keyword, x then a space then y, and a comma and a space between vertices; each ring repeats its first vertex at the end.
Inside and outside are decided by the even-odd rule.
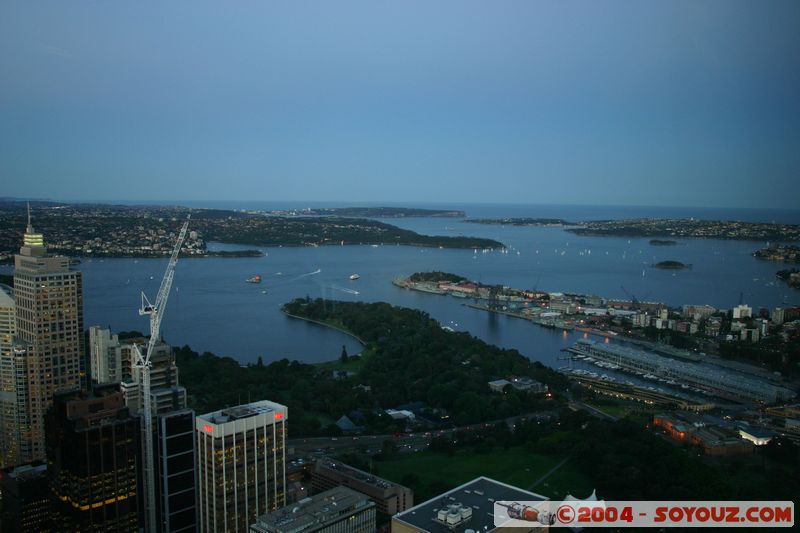
POLYGON ((7 0, 0 196, 800 208, 800 2, 7 0))

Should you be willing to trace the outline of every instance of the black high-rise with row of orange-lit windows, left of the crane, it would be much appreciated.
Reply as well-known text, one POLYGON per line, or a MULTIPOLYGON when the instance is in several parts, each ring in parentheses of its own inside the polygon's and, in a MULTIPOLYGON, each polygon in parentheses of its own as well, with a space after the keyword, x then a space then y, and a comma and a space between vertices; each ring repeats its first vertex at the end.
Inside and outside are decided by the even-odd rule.
POLYGON ((47 471, 56 531, 139 531, 139 425, 118 385, 55 395, 47 471))

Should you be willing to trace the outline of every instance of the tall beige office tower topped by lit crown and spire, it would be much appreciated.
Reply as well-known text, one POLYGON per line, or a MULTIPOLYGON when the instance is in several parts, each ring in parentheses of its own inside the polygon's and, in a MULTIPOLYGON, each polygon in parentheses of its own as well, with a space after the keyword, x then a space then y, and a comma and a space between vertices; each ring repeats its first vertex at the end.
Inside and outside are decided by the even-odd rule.
POLYGON ((44 418, 56 392, 85 385, 83 278, 67 257, 47 252, 31 225, 14 256, 16 336, 27 351, 30 457, 45 458, 44 418))

